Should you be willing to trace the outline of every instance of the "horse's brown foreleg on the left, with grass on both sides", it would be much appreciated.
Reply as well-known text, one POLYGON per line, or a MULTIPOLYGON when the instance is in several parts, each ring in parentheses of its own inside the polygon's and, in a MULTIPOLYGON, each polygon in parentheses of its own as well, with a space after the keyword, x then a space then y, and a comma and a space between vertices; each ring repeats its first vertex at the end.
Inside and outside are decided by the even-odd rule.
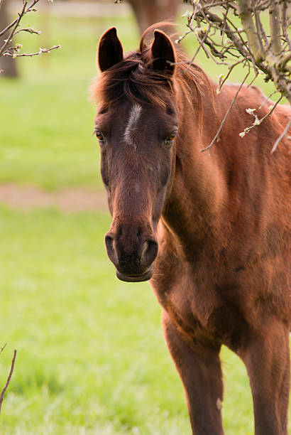
POLYGON ((201 343, 187 344, 165 312, 162 322, 170 354, 184 385, 193 434, 224 434, 219 349, 214 350, 201 343))

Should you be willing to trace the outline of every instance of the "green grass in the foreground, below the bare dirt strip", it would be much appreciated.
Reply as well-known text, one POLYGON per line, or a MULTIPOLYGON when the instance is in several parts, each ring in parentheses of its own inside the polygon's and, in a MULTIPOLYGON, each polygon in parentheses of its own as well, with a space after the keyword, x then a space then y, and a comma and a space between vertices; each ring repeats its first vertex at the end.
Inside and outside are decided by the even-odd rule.
MULTIPOLYGON (((190 434, 160 307, 148 284, 115 278, 108 216, 2 207, 0 225, 1 385, 18 350, 1 434, 190 434)), ((252 434, 246 370, 222 360, 226 434, 252 434)))

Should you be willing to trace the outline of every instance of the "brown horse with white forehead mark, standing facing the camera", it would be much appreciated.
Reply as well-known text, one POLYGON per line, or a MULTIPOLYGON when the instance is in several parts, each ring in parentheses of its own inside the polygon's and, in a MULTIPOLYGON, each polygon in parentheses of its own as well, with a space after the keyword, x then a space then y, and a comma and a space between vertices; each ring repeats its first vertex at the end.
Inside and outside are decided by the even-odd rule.
POLYGON ((182 379, 192 431, 223 434, 224 344, 245 363, 256 435, 286 435, 290 390, 290 156, 270 150, 290 107, 243 86, 211 155, 207 146, 238 85, 185 65, 170 38, 148 29, 123 56, 116 28, 101 37, 95 133, 112 224, 105 242, 123 281, 150 279, 182 379), (288 161, 289 160, 289 161, 288 161))

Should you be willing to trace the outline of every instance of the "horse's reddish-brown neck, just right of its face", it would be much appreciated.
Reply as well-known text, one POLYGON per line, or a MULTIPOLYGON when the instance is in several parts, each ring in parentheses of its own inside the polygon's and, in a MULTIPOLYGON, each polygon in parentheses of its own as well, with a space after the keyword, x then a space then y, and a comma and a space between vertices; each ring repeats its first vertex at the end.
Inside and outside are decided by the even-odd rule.
POLYGON ((176 149, 176 169, 172 190, 165 208, 165 220, 174 232, 187 229, 202 232, 207 222, 219 213, 224 196, 224 183, 219 166, 212 156, 199 151, 209 145, 219 128, 221 119, 212 104, 213 89, 202 97, 202 107, 194 102, 193 110, 186 97, 180 98, 179 138, 176 149), (203 109, 203 124, 199 126, 198 110, 203 109))

